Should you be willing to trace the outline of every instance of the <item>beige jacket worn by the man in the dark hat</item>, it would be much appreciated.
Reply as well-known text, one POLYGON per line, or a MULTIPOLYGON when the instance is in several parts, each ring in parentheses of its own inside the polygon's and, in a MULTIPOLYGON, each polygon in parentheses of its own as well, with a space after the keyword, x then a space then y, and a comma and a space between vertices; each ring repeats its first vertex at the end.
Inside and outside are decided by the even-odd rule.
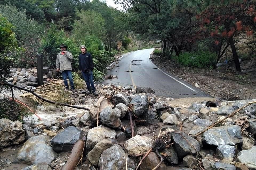
POLYGON ((66 52, 64 55, 59 52, 56 59, 56 68, 59 68, 60 71, 64 70, 72 70, 71 61, 73 60, 73 56, 70 52, 66 52))

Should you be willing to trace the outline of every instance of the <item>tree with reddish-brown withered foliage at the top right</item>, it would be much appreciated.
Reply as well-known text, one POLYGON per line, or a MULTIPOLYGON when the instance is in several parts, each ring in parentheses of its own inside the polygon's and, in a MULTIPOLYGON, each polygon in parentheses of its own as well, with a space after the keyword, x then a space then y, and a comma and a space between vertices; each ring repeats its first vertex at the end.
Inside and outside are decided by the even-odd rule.
POLYGON ((195 9, 202 32, 210 32, 211 36, 215 37, 216 44, 219 44, 220 40, 226 41, 232 50, 235 67, 241 72, 235 41, 238 38, 251 36, 255 31, 255 2, 255 0, 177 0, 173 1, 173 4, 183 5, 190 10, 195 9))

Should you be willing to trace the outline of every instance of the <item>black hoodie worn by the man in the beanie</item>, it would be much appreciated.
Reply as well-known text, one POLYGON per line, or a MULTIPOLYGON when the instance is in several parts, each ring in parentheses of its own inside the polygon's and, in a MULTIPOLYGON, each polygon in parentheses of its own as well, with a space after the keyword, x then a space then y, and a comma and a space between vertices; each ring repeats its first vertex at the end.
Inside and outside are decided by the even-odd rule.
POLYGON ((93 58, 90 53, 81 53, 78 57, 79 69, 83 72, 93 70, 93 58))

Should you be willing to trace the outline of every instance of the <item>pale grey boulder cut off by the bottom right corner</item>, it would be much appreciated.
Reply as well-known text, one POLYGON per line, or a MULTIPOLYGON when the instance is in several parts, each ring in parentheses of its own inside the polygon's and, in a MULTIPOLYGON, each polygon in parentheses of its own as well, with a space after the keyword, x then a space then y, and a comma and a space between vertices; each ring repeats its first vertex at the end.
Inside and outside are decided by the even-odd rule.
POLYGON ((242 163, 245 164, 246 167, 250 170, 256 169, 256 146, 253 146, 249 150, 242 150, 238 153, 237 159, 242 163))

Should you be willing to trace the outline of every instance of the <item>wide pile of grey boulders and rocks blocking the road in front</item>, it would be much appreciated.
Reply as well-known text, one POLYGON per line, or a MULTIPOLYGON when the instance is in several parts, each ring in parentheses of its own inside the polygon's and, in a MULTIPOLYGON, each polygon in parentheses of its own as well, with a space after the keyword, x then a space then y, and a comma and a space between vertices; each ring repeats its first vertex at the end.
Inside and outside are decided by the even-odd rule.
POLYGON ((73 117, 58 116, 33 124, 0 119, 0 148, 26 140, 13 163, 43 164, 45 169, 61 169, 68 156, 61 159, 58 155, 70 152, 79 139, 86 143, 83 160, 98 169, 136 169, 150 149, 140 169, 153 169, 161 160, 159 155, 164 161, 157 169, 181 164, 190 169, 256 169, 256 104, 195 137, 256 99, 214 101, 211 106, 216 107, 204 101, 188 108, 174 108, 158 99, 152 94, 137 94, 134 89, 129 95, 120 90, 87 103, 84 106, 90 111, 77 109, 73 117))

